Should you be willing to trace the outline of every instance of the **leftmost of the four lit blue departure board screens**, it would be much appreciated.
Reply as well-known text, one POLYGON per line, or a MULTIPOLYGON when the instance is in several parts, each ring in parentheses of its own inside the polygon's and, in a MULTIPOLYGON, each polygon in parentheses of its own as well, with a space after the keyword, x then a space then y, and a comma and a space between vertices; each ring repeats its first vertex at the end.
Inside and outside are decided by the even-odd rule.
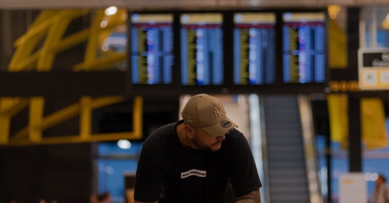
POLYGON ((171 84, 173 15, 131 16, 132 84, 171 84))

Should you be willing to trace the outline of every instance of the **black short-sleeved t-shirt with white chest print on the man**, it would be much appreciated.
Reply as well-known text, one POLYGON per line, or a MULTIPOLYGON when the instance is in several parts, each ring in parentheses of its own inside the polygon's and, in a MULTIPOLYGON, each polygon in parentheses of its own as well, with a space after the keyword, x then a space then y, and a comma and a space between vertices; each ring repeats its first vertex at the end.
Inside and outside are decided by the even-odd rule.
POLYGON ((223 202, 228 181, 244 196, 261 182, 249 144, 234 129, 219 151, 184 147, 172 123, 153 132, 144 142, 135 177, 134 198, 153 202, 223 202))

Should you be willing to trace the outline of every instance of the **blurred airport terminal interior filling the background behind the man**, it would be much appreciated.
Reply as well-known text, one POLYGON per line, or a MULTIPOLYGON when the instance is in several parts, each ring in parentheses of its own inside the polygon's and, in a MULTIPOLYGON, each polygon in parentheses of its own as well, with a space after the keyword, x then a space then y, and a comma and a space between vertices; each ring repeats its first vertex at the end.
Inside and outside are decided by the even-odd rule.
POLYGON ((368 203, 388 90, 386 0, 0 1, 0 203, 134 202, 143 142, 202 93, 262 203, 368 203))

